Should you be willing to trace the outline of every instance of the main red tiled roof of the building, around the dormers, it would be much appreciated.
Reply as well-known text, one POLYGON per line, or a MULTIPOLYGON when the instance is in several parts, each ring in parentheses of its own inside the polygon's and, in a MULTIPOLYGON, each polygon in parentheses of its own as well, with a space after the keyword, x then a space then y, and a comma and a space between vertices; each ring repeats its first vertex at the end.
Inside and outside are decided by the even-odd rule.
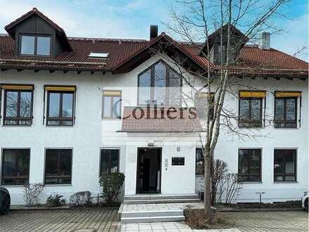
MULTIPOLYGON (((21 18, 28 17, 29 14, 40 13, 32 10, 21 18)), ((44 16, 42 14, 42 16, 44 16)), ((45 17, 45 16, 44 16, 45 17)), ((15 20, 8 26, 13 26, 15 20)), ((46 18, 48 20, 48 18, 46 18)), ((51 20, 50 20, 51 21, 51 20)), ((51 21, 55 27, 58 27, 51 21)), ((8 27, 7 26, 7 27, 8 27)), ((61 27, 58 28, 62 30, 61 27)), ((134 39, 91 39, 91 38, 68 38, 72 51, 62 53, 55 58, 39 57, 15 57, 14 41, 8 35, 0 36, 0 67, 17 69, 55 69, 55 70, 89 70, 89 71, 112 71, 117 67, 138 56, 145 49, 149 49, 160 39, 167 39, 173 46, 185 53, 199 67, 216 70, 217 66, 210 63, 206 58, 199 56, 202 45, 177 42, 165 33, 160 34, 151 41, 134 39), (90 52, 110 53, 108 58, 88 58, 90 52), (28 60, 27 63, 25 60, 28 60)), ((294 56, 290 56, 275 49, 263 50, 257 46, 244 46, 239 53, 239 63, 232 70, 235 74, 252 75, 294 75, 308 76, 308 63, 294 56)))

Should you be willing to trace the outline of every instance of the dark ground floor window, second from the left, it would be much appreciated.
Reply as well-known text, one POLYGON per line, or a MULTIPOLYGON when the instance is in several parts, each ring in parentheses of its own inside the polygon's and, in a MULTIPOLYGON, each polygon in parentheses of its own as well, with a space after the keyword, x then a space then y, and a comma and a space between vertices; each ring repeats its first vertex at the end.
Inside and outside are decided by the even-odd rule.
POLYGON ((70 184, 72 149, 46 149, 45 184, 70 184))

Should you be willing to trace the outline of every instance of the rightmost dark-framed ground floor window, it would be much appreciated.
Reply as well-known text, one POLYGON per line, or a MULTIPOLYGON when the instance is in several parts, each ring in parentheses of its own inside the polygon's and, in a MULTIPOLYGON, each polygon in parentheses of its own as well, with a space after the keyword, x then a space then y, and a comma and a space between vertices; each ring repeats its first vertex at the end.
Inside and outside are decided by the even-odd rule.
POLYGON ((275 149, 274 181, 296 181, 295 149, 275 149))

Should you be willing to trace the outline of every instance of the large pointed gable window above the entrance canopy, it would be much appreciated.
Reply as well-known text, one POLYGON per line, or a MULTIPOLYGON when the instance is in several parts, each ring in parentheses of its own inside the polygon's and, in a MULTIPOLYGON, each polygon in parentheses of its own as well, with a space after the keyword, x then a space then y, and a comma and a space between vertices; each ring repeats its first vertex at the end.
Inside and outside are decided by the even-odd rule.
POLYGON ((181 77, 163 60, 138 75, 139 105, 181 105, 181 77))

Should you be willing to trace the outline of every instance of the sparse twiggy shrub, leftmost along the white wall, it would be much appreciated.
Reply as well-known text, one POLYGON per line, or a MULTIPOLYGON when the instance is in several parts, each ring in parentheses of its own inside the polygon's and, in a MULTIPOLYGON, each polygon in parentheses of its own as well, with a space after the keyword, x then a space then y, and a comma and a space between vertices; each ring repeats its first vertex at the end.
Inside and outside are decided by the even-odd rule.
POLYGON ((42 183, 27 183, 23 186, 24 201, 27 207, 33 207, 39 203, 39 195, 43 191, 42 183))

